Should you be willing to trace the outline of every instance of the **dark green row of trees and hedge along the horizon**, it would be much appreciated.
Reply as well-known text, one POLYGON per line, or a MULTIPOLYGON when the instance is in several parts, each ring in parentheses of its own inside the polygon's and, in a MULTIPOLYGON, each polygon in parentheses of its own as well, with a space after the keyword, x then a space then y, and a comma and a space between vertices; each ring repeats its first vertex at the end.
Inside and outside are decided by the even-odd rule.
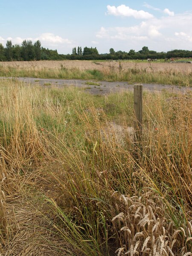
POLYGON ((144 46, 136 52, 130 49, 129 52, 116 51, 111 48, 109 53, 99 54, 93 47, 74 47, 72 54, 58 54, 57 50, 41 47, 38 40, 32 44, 31 40, 23 40, 22 44, 12 44, 11 40, 6 42, 6 47, 0 44, 0 61, 39 61, 39 60, 124 60, 124 59, 169 59, 169 58, 192 58, 192 51, 175 49, 168 52, 156 52, 144 46))

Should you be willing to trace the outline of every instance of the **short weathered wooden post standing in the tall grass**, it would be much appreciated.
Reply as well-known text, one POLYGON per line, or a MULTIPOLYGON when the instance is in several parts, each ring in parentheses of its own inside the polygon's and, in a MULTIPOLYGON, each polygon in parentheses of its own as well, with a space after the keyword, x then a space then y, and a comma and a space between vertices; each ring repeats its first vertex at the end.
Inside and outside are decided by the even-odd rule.
POLYGON ((134 85, 134 111, 136 120, 134 130, 137 142, 142 140, 142 121, 143 121, 143 84, 134 85))

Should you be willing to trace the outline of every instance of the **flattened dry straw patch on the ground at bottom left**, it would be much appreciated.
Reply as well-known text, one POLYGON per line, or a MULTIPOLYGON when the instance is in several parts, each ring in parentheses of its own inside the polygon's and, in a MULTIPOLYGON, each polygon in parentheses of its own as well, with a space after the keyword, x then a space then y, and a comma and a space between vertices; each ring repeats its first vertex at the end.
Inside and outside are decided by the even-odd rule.
MULTIPOLYGON (((25 192, 29 196, 29 192, 25 192)), ((32 195, 32 194, 30 194, 32 195)), ((36 195, 35 195, 36 198, 36 195)), ((69 255, 69 244, 61 241, 44 215, 49 209, 20 195, 6 198, 6 218, 9 233, 0 241, 0 253, 6 256, 69 255)), ((51 218, 51 215, 50 215, 51 218)), ((72 249, 70 249, 72 251, 72 249)))

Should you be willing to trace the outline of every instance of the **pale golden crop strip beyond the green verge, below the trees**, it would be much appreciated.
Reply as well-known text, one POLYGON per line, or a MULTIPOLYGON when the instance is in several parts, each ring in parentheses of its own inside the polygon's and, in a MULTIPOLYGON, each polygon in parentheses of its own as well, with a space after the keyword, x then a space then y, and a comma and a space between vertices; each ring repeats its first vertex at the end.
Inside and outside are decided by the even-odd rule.
MULTIPOLYGON (((190 64, 187 63, 158 63, 158 62, 134 62, 134 61, 121 61, 122 70, 128 68, 137 68, 141 70, 146 70, 147 72, 180 72, 191 74, 192 68, 190 64)), ((9 61, 0 62, 2 67, 16 67, 16 68, 35 68, 35 69, 61 69, 65 67, 67 69, 76 68, 79 70, 116 70, 119 69, 119 61, 9 61)))

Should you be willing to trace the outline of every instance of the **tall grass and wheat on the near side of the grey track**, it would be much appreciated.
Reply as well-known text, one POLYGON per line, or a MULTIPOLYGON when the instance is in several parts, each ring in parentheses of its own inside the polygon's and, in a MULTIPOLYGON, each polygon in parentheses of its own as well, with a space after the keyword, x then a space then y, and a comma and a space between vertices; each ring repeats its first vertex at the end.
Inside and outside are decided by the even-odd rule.
MULTIPOLYGON (((29 64, 18 74, 44 70, 29 64)), ((133 143, 131 92, 1 80, 0 254, 191 255, 191 106, 191 92, 145 92, 133 143)))

